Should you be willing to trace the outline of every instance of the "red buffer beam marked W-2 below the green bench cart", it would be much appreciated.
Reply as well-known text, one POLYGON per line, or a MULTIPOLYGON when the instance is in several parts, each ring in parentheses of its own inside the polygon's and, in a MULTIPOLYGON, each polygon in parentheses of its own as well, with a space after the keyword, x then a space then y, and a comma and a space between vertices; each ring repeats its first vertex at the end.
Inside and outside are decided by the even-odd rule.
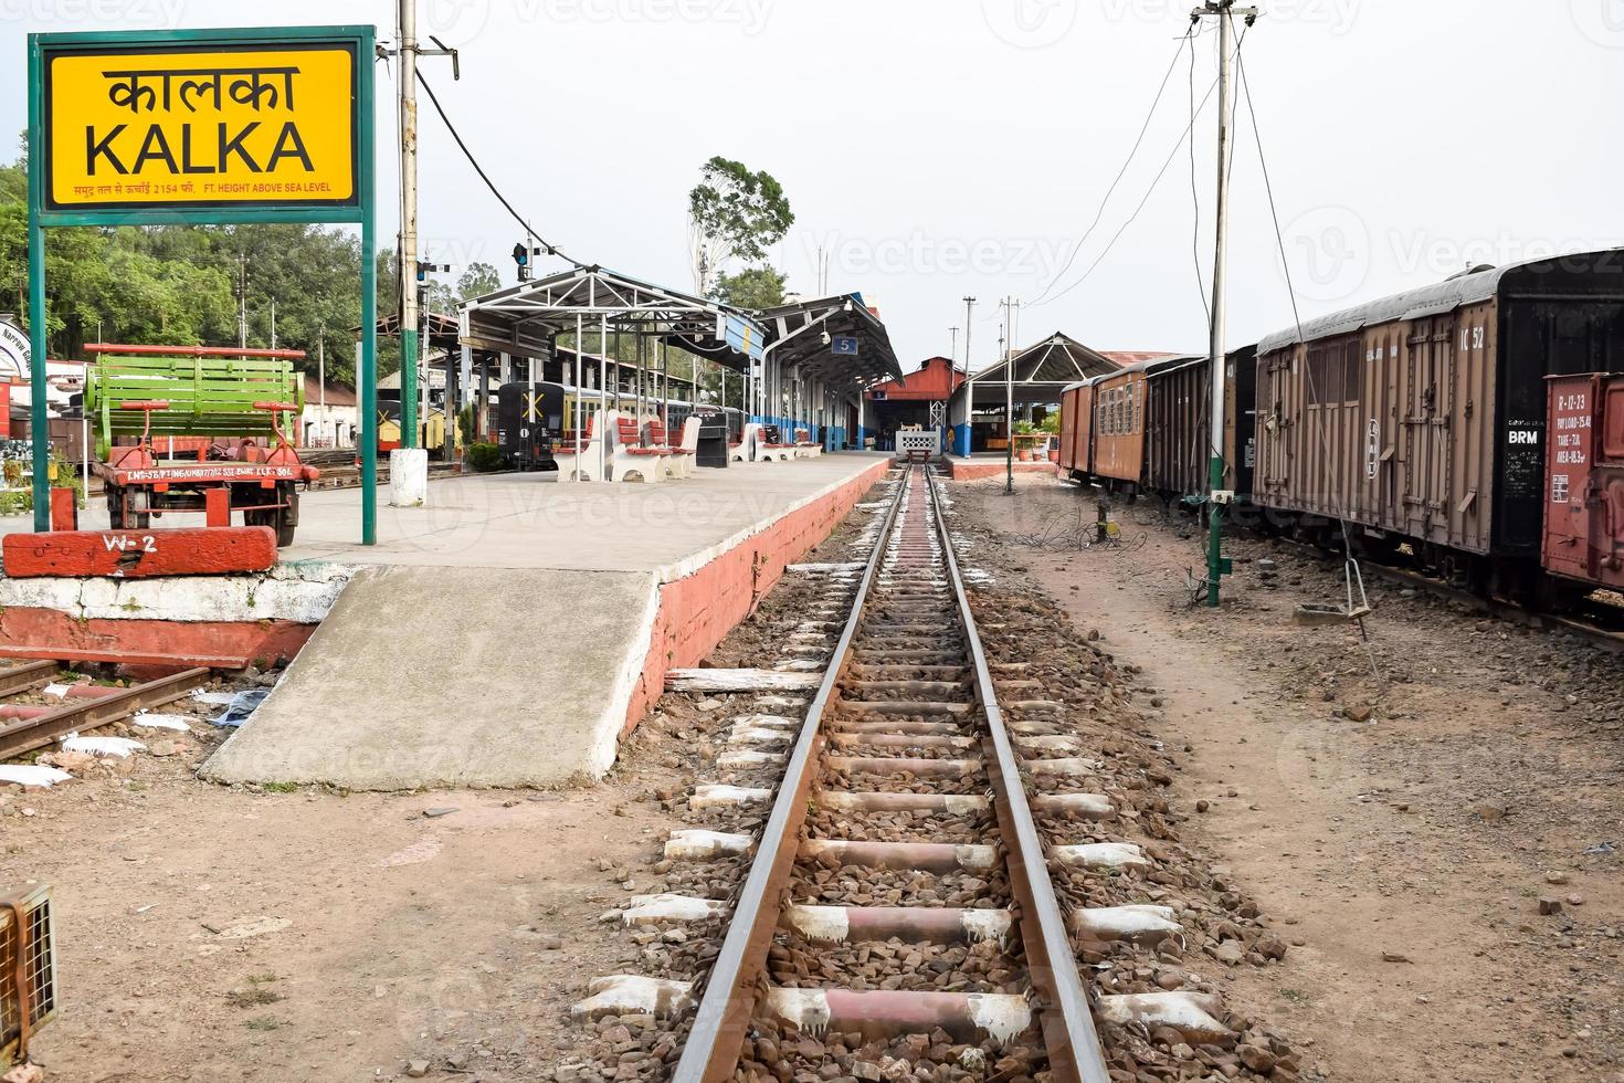
POLYGON ((276 567, 276 533, 268 526, 44 531, 6 534, 0 552, 13 580, 242 575, 276 567))

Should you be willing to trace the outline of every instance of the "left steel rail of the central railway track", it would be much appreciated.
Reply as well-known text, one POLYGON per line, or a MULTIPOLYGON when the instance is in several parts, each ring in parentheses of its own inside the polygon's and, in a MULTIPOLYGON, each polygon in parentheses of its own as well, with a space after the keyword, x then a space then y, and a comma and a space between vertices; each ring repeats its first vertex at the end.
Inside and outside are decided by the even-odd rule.
POLYGON ((778 797, 773 800, 773 812, 757 843, 757 859, 750 865, 739 901, 734 904, 721 951, 711 964, 705 994, 693 1015, 693 1028, 682 1046, 682 1057, 671 1073, 672 1083, 719 1083, 729 1078, 739 1064, 745 1031, 755 1013, 757 990, 767 968, 767 951, 773 932, 778 929, 783 893, 788 890, 801 830, 806 825, 807 796, 825 740, 823 710, 851 658, 862 611, 869 604, 869 588, 885 559, 885 544, 890 541, 906 492, 905 477, 896 485, 896 495, 892 498, 885 523, 874 541, 874 552, 869 554, 862 581, 857 583, 851 615, 846 617, 846 627, 828 659, 817 695, 807 708, 796 747, 789 753, 784 778, 778 786, 778 797))

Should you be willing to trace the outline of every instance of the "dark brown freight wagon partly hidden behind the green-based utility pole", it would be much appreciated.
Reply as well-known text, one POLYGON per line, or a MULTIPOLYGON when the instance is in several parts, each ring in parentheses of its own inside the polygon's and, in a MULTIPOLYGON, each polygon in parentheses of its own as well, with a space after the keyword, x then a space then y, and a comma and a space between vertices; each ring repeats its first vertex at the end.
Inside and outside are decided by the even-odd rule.
MULTIPOLYGON (((1224 359, 1223 487, 1252 492, 1257 349, 1224 359), (1244 406, 1242 406, 1244 404, 1244 406)), ((1145 487, 1171 497, 1207 494, 1212 445, 1212 365, 1207 354, 1155 362, 1145 373, 1145 487)))

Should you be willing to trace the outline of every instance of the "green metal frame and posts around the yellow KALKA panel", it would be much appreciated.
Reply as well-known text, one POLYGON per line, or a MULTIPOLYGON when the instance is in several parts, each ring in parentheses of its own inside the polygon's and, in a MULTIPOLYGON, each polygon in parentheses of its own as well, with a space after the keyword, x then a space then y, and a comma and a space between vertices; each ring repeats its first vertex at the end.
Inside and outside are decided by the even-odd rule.
POLYGON ((361 542, 377 542, 377 229, 375 229, 375 117, 372 26, 266 26, 28 36, 28 330, 32 347, 29 432, 34 445, 34 529, 50 529, 50 432, 45 412, 45 231, 57 226, 226 226, 245 222, 313 222, 361 226, 361 542), (338 45, 354 52, 354 198, 335 203, 283 200, 273 203, 154 201, 143 205, 52 208, 45 201, 50 162, 45 159, 45 58, 57 55, 117 55, 128 52, 232 50, 260 47, 291 50, 338 45))

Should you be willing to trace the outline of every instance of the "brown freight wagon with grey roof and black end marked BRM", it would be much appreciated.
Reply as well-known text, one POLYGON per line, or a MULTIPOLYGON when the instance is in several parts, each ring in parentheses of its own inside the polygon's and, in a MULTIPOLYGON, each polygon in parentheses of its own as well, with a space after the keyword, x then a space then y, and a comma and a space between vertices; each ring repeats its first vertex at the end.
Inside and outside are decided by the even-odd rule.
MULTIPOLYGON (((1536 576, 1544 377, 1624 367, 1624 250, 1486 268, 1257 347, 1254 500, 1408 542, 1478 588, 1536 576)), ((1312 524, 1312 520, 1307 520, 1312 524)))

